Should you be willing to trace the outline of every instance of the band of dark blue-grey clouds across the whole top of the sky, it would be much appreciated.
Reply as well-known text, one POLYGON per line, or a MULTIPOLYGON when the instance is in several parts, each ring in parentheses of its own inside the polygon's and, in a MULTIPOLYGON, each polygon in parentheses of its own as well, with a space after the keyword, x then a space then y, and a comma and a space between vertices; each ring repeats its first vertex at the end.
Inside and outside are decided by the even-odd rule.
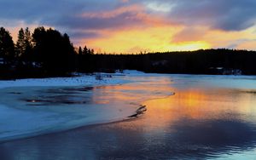
MULTIPOLYGON (((127 10, 112 17, 81 17, 84 13, 102 13, 133 4, 142 5, 145 14, 163 14, 147 9, 148 3, 169 4, 165 13, 166 22, 185 26, 209 26, 224 31, 241 31, 254 25, 256 19, 255 0, 1 0, 0 26, 4 20, 22 20, 27 24, 62 28, 67 32, 81 30, 116 29, 126 26, 143 26, 137 19, 137 11, 127 10), (131 19, 127 19, 130 17, 131 19)), ((162 6, 163 6, 162 5, 162 6)), ((83 35, 73 34, 74 37, 83 35)), ((91 37, 91 34, 84 34, 91 37)))

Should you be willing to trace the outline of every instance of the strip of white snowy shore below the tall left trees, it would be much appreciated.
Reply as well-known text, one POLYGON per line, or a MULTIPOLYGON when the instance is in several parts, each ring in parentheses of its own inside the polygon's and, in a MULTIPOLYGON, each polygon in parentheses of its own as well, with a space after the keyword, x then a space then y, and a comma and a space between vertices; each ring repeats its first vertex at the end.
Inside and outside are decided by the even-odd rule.
POLYGON ((75 77, 43 77, 43 78, 25 78, 15 80, 0 80, 0 89, 9 87, 73 87, 73 86, 101 86, 118 85, 129 83, 124 80, 127 75, 142 75, 142 71, 125 70, 122 73, 100 73, 102 80, 96 80, 96 75, 81 74, 75 77))

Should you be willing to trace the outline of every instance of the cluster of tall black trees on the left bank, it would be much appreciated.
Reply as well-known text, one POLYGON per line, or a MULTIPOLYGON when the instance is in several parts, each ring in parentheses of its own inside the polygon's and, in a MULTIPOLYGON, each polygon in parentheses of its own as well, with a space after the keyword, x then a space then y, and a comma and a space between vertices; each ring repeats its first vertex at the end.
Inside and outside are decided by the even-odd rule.
POLYGON ((0 77, 66 76, 75 70, 76 53, 66 33, 44 27, 31 33, 21 28, 14 43, 9 31, 0 30, 0 77))

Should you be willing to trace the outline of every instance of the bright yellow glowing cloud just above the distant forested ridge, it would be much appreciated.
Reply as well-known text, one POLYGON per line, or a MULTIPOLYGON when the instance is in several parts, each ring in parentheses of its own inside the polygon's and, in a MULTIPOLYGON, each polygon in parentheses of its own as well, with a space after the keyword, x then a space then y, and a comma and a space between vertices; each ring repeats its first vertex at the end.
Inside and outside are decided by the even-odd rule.
POLYGON ((210 44, 203 41, 172 43, 170 39, 181 30, 182 27, 179 26, 154 26, 144 29, 105 31, 108 36, 87 39, 86 42, 96 50, 116 54, 210 48, 210 44))

